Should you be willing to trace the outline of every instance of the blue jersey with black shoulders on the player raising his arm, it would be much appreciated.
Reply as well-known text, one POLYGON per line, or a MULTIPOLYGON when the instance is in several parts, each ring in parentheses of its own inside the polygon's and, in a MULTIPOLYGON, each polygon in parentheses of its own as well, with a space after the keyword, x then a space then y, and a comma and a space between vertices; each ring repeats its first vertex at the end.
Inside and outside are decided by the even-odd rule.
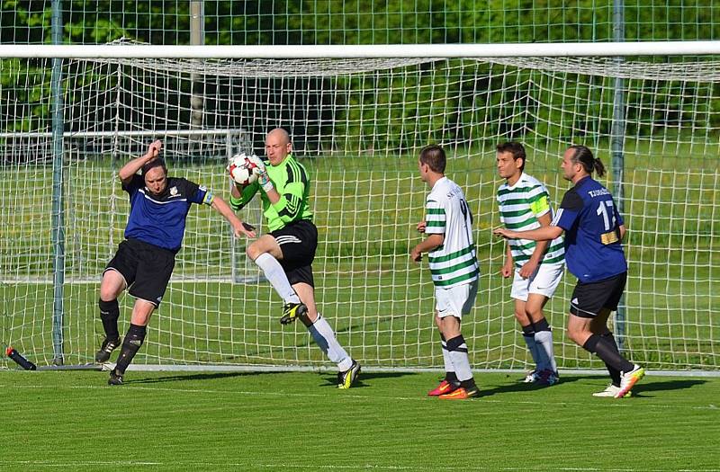
POLYGON ((168 177, 165 191, 152 195, 135 174, 122 190, 130 194, 130 217, 125 237, 177 252, 183 243, 185 220, 193 203, 212 203, 212 193, 197 183, 168 177))

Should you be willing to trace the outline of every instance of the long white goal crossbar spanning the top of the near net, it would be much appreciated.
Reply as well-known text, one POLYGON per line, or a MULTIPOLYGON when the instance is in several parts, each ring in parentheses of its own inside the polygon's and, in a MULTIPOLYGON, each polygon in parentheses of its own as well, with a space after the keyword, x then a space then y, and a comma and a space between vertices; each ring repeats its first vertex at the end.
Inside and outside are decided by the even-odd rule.
POLYGON ((0 45, 1 58, 564 58, 720 54, 720 40, 517 44, 166 46, 0 45))

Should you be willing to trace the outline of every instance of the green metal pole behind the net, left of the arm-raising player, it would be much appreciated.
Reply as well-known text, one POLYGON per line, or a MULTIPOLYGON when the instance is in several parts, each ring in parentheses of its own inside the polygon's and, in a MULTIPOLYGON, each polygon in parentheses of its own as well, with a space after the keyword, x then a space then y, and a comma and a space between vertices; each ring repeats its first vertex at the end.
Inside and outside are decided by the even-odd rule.
MULTIPOLYGON (((52 43, 62 44, 61 0, 52 1, 52 43)), ((63 201, 63 114, 62 114, 62 59, 52 59, 50 78, 52 101, 52 246, 53 246, 53 304, 52 349, 53 363, 62 365, 63 353, 63 296, 65 289, 65 218, 63 201)))

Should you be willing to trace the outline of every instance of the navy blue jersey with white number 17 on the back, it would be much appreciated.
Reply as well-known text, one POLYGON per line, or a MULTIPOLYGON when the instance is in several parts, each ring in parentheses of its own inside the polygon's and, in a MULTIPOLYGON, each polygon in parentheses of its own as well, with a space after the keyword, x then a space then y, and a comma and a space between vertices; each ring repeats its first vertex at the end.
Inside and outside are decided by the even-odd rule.
POLYGON ((553 226, 565 230, 565 262, 575 277, 592 282, 627 272, 622 224, 613 196, 590 176, 565 193, 553 226))

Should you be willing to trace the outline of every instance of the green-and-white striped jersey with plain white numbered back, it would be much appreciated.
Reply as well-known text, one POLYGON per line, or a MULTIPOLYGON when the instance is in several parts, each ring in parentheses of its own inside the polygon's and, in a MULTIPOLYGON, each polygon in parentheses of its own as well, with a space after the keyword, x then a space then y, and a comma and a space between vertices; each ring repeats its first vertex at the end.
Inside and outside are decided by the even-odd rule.
POLYGON ((476 280, 480 270, 473 215, 463 190, 447 177, 441 178, 428 195, 425 211, 425 234, 445 236, 443 244, 428 253, 435 286, 446 289, 476 280))

